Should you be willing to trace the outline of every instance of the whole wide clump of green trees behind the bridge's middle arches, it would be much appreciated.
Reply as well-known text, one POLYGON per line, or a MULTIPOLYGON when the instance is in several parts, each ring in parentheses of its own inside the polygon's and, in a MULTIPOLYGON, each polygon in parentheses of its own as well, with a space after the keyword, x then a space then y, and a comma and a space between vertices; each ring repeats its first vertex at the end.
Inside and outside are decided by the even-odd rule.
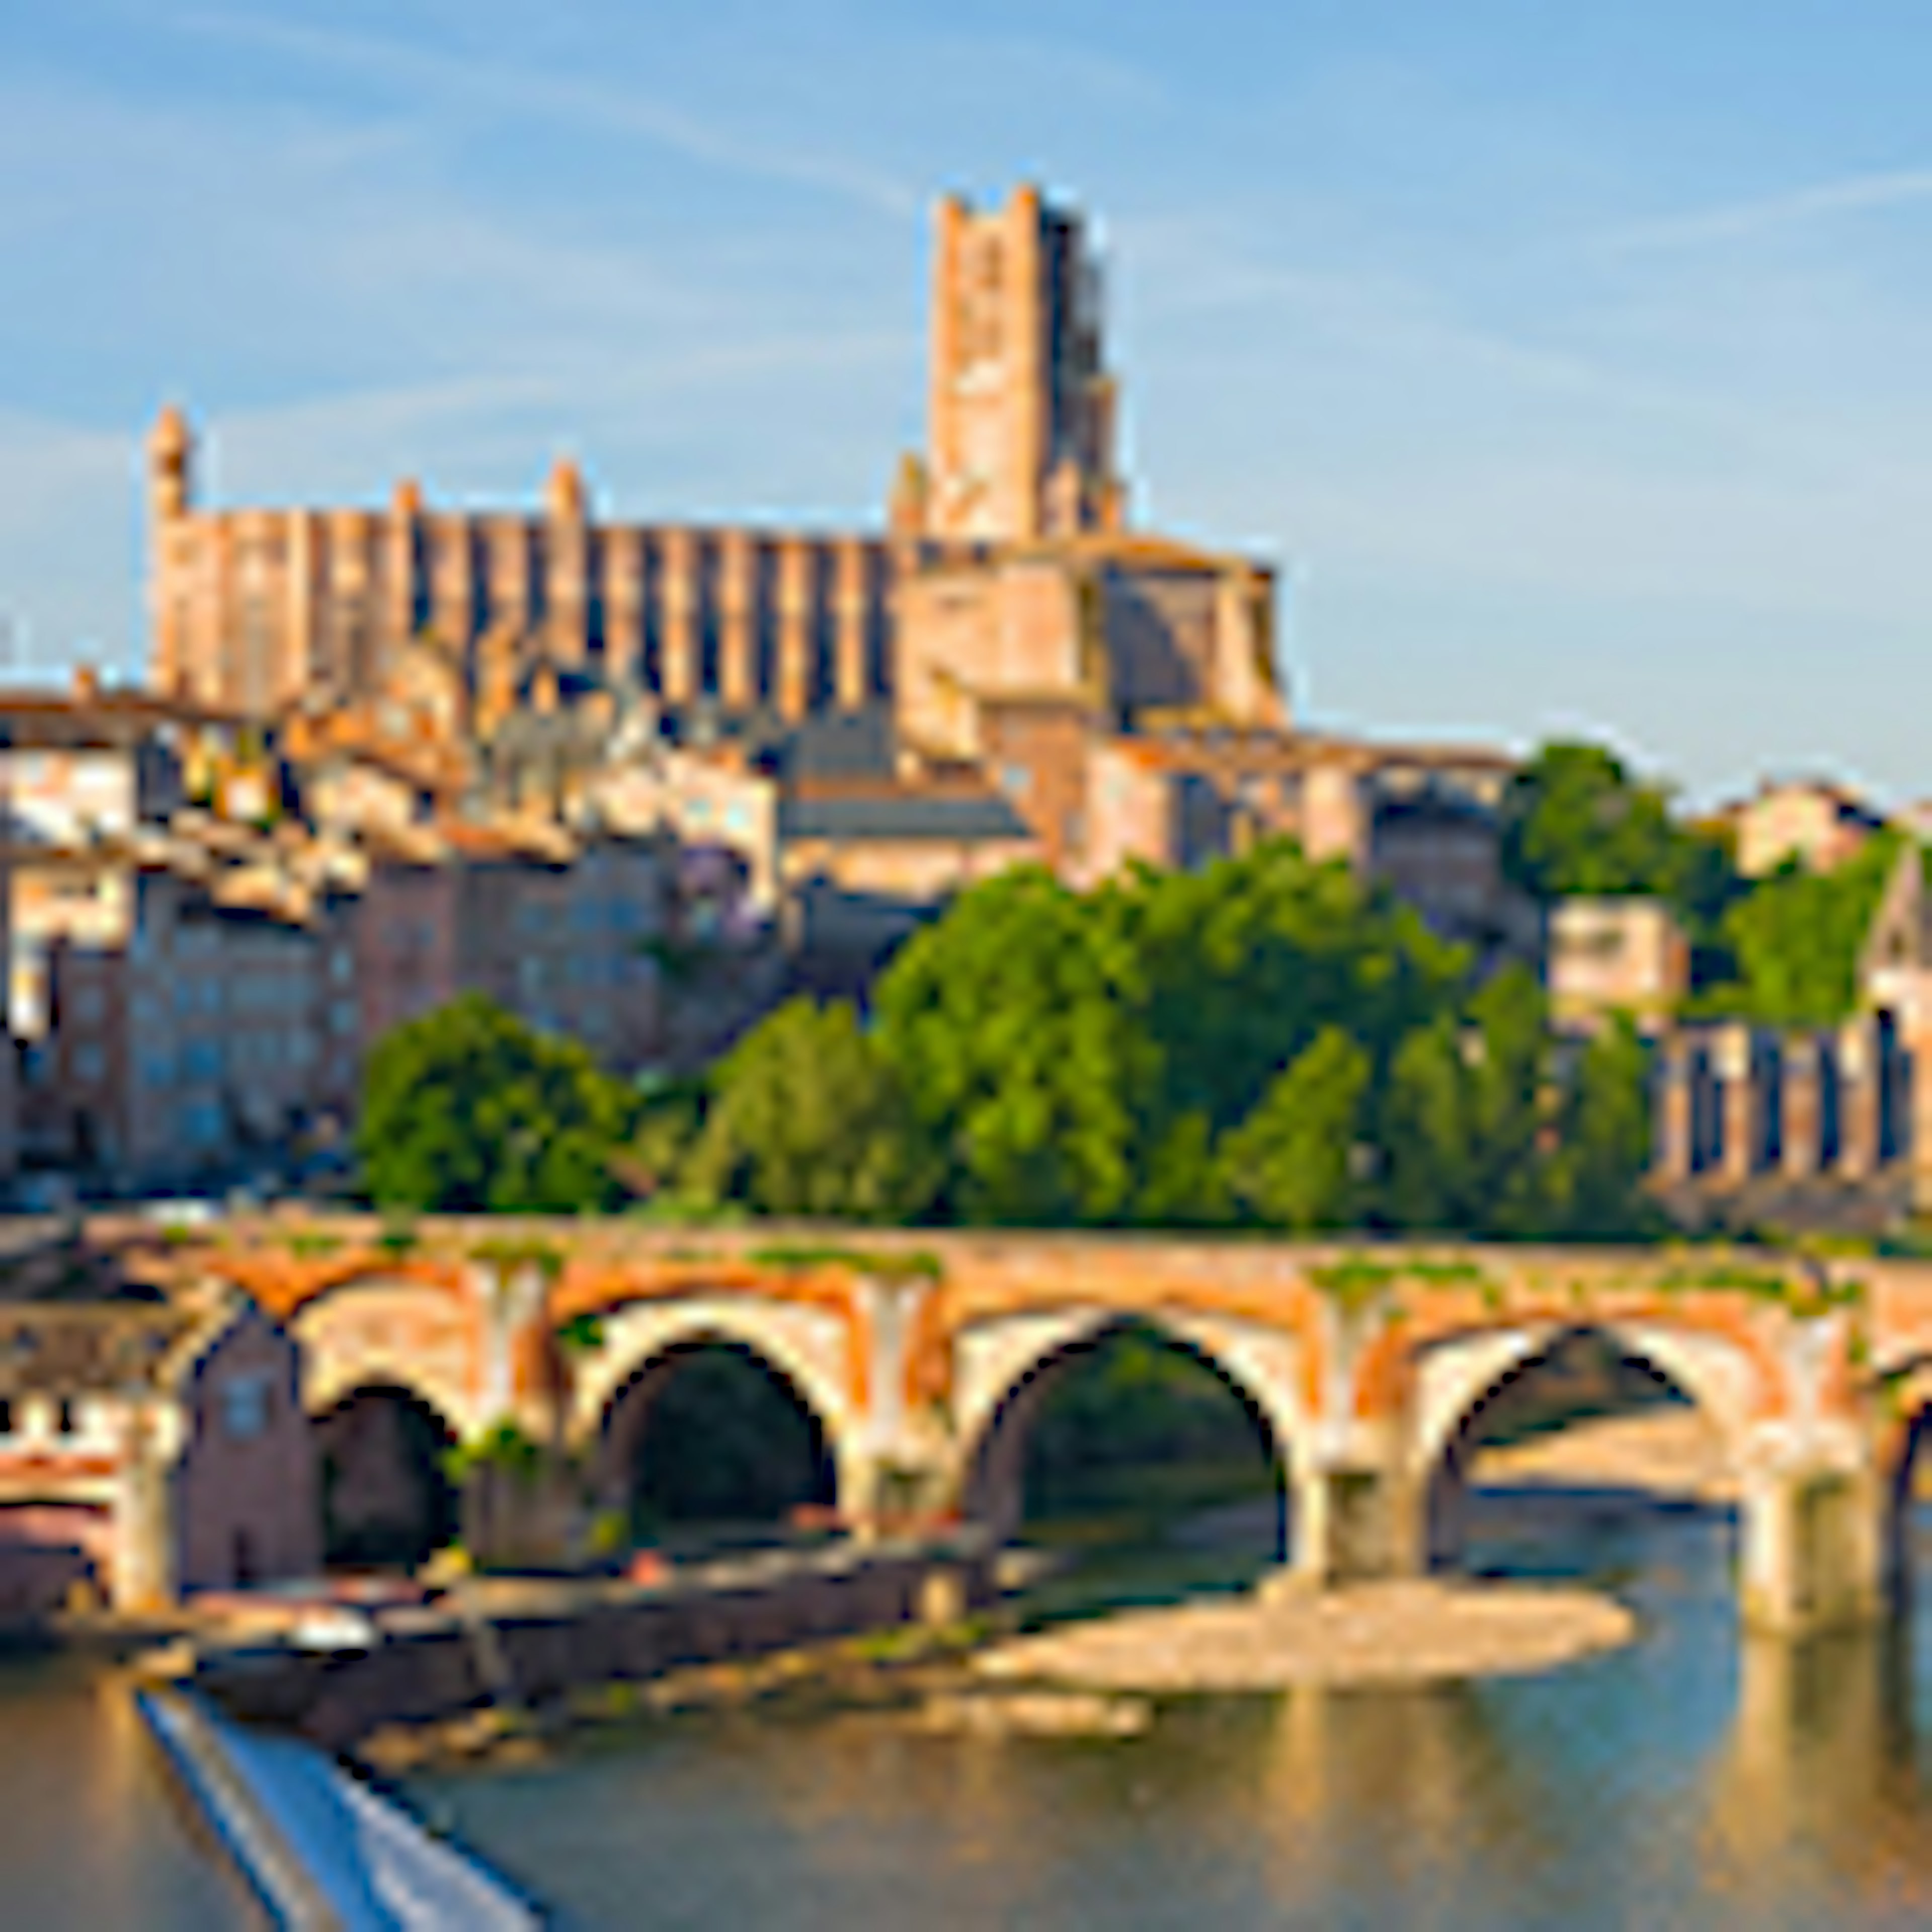
POLYGON ((904 947, 875 1014, 748 1036, 678 1184, 1014 1225, 1534 1233, 1573 1196, 1634 1221, 1640 1053, 1590 1063, 1605 1121, 1557 1173, 1559 1107, 1584 1103, 1534 976, 1472 989, 1464 952, 1291 844, 1092 893, 1005 873, 904 947), (866 1175, 891 1179, 854 1194, 866 1175))

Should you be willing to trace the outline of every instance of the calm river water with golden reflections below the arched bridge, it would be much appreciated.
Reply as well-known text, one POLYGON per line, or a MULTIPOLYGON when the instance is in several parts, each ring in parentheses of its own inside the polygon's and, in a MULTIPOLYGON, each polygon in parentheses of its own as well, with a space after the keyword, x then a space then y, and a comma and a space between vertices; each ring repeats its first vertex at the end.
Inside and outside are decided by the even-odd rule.
MULTIPOLYGON (((1731 1549, 1719 1513, 1484 1501, 1478 1565, 1644 1619, 1540 1679, 1177 1700, 1119 1741, 688 1716, 412 1793, 574 1926, 1922 1924, 1932 1607, 1741 1642, 1731 1549)), ((0 1920, 245 1922, 93 1673, 0 1667, 0 1920)))

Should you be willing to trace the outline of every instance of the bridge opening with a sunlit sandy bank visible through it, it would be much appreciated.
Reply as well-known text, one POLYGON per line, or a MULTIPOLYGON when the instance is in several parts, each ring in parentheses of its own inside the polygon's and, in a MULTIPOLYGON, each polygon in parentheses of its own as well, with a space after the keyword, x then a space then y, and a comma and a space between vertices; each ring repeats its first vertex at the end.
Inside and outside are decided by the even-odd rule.
POLYGON ((1621 1569, 1660 1515, 1716 1507, 1708 1430, 1690 1393, 1613 1333, 1565 1329, 1451 1432, 1424 1495, 1428 1563, 1476 1575, 1621 1569), (1580 1428, 1623 1420, 1642 1428, 1580 1428))

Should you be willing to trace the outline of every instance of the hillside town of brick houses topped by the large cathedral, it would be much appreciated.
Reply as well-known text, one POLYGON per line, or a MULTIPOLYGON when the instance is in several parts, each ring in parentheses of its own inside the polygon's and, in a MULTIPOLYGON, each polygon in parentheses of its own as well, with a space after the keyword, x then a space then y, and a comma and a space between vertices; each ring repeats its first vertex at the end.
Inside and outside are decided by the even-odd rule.
MULTIPOLYGON (((943 201, 927 446, 883 535, 612 524, 570 462, 533 514, 412 481, 383 510, 218 506, 166 408, 147 680, 0 692, 0 1182, 327 1190, 375 1043, 462 991, 676 1078, 790 993, 864 999, 976 881, 1092 889, 1269 838, 1480 970, 1528 964, 1559 1028, 1667 1036, 1673 1198, 1895 1175, 1907 887, 1845 1016, 1870 1041, 1804 1074, 1762 1028, 1685 1030, 1679 908, 1513 873, 1509 750, 1294 723, 1275 566, 1132 520, 1103 321, 1078 214, 943 201)), ((1704 831, 1762 879, 1855 862, 1888 815, 1785 781, 1704 831)))

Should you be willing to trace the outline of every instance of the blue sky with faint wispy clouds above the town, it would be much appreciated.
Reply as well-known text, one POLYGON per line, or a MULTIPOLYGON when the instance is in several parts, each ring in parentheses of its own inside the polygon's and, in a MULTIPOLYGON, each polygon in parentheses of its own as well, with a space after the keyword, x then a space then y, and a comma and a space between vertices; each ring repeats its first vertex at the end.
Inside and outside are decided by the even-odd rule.
POLYGON ((1903 0, 0 0, 0 612, 139 663, 170 396, 230 500, 875 518, 929 201, 1024 176, 1304 717, 1915 798, 1928 81, 1903 0))

